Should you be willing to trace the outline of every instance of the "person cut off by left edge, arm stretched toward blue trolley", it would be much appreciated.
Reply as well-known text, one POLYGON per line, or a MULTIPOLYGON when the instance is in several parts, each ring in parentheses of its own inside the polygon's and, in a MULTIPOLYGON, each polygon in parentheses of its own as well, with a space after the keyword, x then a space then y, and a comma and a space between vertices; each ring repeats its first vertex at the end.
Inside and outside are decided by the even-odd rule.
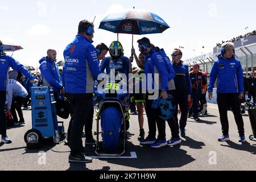
POLYGON ((38 82, 34 76, 13 57, 6 55, 3 51, 3 43, 0 40, 0 134, 2 135, 1 142, 11 143, 11 140, 6 135, 6 118, 5 118, 5 102, 6 102, 6 86, 8 83, 9 68, 22 72, 29 80, 38 82))

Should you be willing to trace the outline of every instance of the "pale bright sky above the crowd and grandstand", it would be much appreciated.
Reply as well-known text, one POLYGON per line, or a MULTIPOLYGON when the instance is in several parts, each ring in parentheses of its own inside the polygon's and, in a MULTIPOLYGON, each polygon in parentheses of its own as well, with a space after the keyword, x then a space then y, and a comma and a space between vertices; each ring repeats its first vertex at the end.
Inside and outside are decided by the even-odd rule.
MULTIPOLYGON (((96 16, 93 44, 103 42, 109 46, 117 40, 117 34, 98 29, 101 20, 115 11, 133 7, 159 15, 170 26, 162 34, 135 35, 137 54, 137 40, 144 36, 155 46, 164 48, 168 56, 174 48, 184 47, 185 60, 212 52, 222 40, 256 29, 256 1, 253 0, 0 0, 0 40, 22 46, 24 49, 14 52, 13 57, 24 65, 39 67, 38 61, 46 56, 49 48, 56 49, 57 60, 63 60, 63 51, 75 39, 82 19, 93 21, 96 16)), ((131 35, 119 34, 119 41, 129 57, 131 35)))

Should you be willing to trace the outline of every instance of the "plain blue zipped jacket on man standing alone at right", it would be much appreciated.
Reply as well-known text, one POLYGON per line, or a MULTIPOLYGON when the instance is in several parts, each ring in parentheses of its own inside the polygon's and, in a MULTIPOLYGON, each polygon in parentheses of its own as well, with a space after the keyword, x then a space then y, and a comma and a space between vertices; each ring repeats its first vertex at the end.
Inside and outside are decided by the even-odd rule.
POLYGON ((243 70, 240 60, 233 56, 225 59, 218 55, 210 72, 208 92, 212 92, 217 79, 217 93, 243 93, 243 70))

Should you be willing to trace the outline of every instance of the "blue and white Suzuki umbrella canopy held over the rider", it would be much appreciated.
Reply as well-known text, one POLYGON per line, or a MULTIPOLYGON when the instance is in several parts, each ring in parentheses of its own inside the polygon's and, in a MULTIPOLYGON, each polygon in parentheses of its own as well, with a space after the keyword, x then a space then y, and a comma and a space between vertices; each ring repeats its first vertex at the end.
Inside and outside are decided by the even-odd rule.
POLYGON ((158 34, 170 28, 160 16, 147 10, 130 9, 123 13, 109 14, 101 23, 101 29, 119 34, 158 34))

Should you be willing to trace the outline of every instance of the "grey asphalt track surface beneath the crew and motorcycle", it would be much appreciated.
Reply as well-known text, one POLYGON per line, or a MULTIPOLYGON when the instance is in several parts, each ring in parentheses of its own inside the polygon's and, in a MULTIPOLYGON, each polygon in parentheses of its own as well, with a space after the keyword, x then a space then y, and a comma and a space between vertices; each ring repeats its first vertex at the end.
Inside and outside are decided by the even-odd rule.
MULTIPOLYGON (((137 140, 138 116, 131 115, 127 150, 124 155, 126 158, 94 158, 93 162, 88 164, 68 163, 69 147, 64 143, 57 145, 44 143, 44 147, 39 149, 26 150, 23 137, 24 133, 31 129, 31 110, 24 110, 23 113, 26 125, 7 130, 13 143, 0 144, 0 171, 256 170, 256 140, 249 140, 249 135, 252 134, 249 117, 243 116, 247 142, 238 142, 237 126, 231 111, 228 112, 231 141, 218 142, 217 138, 221 136, 221 124, 217 105, 214 104, 208 104, 209 117, 202 117, 200 122, 188 119, 187 137, 183 137, 181 145, 175 147, 141 146, 137 140), (45 153, 39 153, 42 151, 45 153)), ((59 119, 59 121, 64 121, 65 131, 67 131, 69 119, 59 119)), ((147 133, 146 115, 144 115, 144 129, 147 133)), ((96 122, 93 124, 93 131, 96 131, 96 122)), ((169 139, 171 132, 168 125, 166 125, 166 131, 169 139)), ((88 155, 95 156, 94 152, 89 152, 88 155)))

